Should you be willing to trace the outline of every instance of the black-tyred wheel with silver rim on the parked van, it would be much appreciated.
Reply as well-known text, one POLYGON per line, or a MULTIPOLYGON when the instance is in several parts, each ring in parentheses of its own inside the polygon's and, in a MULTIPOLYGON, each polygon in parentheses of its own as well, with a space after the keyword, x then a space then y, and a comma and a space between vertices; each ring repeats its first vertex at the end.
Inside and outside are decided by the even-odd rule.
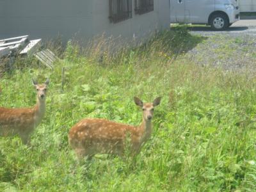
POLYGON ((221 31, 228 28, 228 18, 224 14, 212 15, 210 20, 211 28, 215 31, 221 31))

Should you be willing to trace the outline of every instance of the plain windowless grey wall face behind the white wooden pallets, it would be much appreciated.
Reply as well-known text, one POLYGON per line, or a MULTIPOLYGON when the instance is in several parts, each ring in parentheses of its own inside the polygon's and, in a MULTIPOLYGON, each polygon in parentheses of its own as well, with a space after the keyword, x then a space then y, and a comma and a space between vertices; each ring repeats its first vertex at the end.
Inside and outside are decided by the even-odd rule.
POLYGON ((0 0, 0 38, 92 35, 92 0, 0 0), (89 26, 89 27, 88 27, 89 26))

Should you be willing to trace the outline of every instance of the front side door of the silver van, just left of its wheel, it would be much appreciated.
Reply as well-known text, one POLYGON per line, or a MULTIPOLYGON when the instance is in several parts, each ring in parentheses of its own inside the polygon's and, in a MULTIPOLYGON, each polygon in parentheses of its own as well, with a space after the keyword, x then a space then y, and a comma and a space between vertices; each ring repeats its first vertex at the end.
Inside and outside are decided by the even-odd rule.
POLYGON ((185 1, 186 15, 191 23, 205 24, 209 15, 214 12, 214 0, 183 0, 185 1))

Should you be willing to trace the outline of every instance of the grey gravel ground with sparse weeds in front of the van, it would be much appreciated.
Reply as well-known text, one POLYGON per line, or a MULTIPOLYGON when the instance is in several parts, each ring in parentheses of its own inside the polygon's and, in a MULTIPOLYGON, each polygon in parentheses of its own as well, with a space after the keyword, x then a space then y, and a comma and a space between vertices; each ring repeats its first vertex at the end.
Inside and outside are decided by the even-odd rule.
POLYGON ((204 36, 204 40, 186 57, 203 66, 249 70, 256 74, 256 20, 248 23, 239 22, 227 31, 211 31, 206 26, 189 28, 191 34, 204 36))

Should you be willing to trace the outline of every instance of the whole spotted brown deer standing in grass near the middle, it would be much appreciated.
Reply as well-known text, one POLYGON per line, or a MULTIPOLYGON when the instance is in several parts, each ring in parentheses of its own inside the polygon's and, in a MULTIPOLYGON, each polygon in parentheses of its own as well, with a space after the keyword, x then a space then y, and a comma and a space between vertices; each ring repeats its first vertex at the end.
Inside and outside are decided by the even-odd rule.
POLYGON ((127 135, 130 139, 131 156, 139 154, 152 134, 154 108, 160 104, 161 97, 157 97, 152 103, 143 103, 138 97, 134 97, 134 102, 143 113, 142 122, 138 126, 100 118, 85 118, 74 125, 68 133, 68 142, 77 157, 92 159, 98 153, 124 157, 127 135))

